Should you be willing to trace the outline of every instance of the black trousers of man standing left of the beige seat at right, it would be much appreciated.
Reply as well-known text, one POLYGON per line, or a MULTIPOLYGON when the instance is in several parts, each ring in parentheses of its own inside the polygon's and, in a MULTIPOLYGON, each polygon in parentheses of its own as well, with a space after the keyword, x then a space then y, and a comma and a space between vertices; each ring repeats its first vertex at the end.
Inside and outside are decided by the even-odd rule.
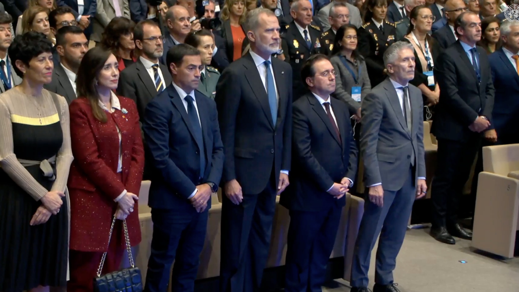
POLYGON ((458 220, 459 197, 467 183, 481 136, 467 140, 438 140, 436 172, 431 186, 433 228, 453 226, 458 220))

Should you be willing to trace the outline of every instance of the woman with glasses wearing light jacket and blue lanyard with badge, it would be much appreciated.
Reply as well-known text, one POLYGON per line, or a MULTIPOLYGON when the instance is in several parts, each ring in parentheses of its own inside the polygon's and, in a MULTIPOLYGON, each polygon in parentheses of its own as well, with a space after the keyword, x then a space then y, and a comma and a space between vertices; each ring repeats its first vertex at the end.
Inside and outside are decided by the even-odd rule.
POLYGON ((429 36, 434 16, 426 6, 416 6, 409 15, 411 23, 404 41, 411 43, 415 48, 415 78, 410 84, 418 87, 424 99, 424 120, 431 120, 433 107, 440 100, 440 87, 434 78, 433 68, 440 45, 429 36))

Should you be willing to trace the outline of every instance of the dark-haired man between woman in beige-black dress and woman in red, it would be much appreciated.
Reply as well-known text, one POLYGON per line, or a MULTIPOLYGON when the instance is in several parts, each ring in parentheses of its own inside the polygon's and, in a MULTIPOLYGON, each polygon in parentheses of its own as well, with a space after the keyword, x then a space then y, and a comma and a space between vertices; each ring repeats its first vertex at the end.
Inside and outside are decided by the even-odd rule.
POLYGON ((52 71, 52 81, 44 85, 48 91, 64 96, 70 104, 77 98, 76 74, 88 51, 88 40, 78 26, 63 26, 56 34, 56 51, 60 61, 52 71))

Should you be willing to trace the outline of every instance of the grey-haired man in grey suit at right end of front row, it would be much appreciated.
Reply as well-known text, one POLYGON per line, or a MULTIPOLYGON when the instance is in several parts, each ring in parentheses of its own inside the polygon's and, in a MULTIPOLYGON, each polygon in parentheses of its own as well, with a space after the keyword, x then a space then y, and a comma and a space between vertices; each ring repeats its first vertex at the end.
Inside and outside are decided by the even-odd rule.
POLYGON ((351 291, 367 292, 371 251, 378 234, 373 292, 395 292, 393 270, 413 202, 425 196, 423 103, 415 75, 414 48, 397 41, 384 53, 389 78, 362 101, 360 148, 364 157, 364 215, 355 243, 351 291))

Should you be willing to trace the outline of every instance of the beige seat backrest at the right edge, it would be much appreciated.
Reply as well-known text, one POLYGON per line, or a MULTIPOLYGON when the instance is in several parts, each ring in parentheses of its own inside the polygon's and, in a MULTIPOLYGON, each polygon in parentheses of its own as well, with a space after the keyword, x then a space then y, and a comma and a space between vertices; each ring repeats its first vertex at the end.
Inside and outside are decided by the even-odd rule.
POLYGON ((519 170, 519 144, 483 147, 483 171, 503 176, 519 170))

